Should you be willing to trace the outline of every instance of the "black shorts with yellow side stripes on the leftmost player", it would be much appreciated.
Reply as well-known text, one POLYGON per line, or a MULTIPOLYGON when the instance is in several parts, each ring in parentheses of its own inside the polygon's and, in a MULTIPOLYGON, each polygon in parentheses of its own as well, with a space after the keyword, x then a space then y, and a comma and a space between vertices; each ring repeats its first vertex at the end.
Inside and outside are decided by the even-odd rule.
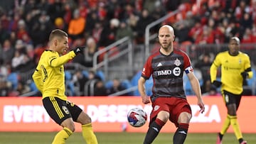
POLYGON ((43 99, 43 106, 49 114, 50 118, 59 125, 67 118, 73 118, 73 121, 78 120, 78 116, 82 109, 70 101, 63 101, 58 97, 49 96, 43 99))

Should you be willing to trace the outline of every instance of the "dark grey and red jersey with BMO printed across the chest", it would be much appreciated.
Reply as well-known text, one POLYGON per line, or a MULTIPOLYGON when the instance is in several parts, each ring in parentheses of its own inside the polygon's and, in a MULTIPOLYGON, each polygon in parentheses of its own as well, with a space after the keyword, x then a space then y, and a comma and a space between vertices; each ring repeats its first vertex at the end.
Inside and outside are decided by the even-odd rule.
POLYGON ((185 52, 174 49, 170 55, 163 55, 160 51, 150 55, 142 70, 142 77, 149 79, 152 74, 153 96, 175 96, 186 99, 183 90, 183 72, 193 72, 191 60, 185 52))

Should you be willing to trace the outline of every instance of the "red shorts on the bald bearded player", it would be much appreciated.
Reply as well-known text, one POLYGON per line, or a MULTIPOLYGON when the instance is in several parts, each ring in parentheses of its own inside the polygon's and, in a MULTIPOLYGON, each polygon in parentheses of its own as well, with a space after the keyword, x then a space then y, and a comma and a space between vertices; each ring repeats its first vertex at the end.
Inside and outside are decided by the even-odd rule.
POLYGON ((170 113, 169 120, 175 126, 178 126, 178 116, 182 112, 191 113, 191 106, 188 104, 188 101, 177 97, 158 97, 152 103, 152 107, 150 121, 155 120, 159 111, 168 111, 170 113))

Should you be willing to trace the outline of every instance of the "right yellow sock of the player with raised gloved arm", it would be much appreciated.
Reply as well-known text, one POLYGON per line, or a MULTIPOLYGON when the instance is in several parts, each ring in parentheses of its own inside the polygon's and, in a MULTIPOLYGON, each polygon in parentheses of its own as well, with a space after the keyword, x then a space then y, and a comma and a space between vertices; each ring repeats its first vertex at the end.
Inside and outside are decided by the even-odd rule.
POLYGON ((97 138, 95 133, 92 131, 92 123, 82 125, 82 137, 85 139, 87 144, 97 144, 97 138))

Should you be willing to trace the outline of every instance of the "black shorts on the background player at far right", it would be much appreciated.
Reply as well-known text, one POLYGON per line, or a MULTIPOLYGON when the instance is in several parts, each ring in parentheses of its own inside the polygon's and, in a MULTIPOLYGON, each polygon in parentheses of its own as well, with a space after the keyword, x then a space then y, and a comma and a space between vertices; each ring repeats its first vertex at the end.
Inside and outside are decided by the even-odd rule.
POLYGON ((242 94, 232 94, 223 90, 223 99, 225 101, 225 105, 228 106, 229 104, 235 104, 237 106, 240 105, 242 94))

